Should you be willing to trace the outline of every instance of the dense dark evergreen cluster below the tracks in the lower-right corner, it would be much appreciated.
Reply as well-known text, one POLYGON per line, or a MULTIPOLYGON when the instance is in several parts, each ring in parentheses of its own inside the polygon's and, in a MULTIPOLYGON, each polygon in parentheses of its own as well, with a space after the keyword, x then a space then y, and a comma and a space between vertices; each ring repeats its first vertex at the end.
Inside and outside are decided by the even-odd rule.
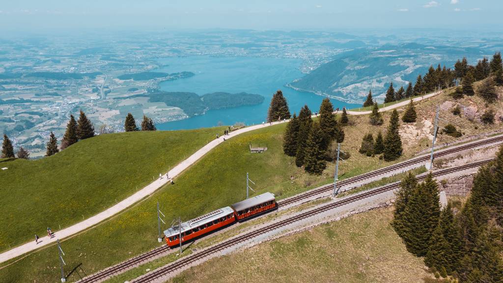
POLYGON ((479 169, 470 197, 455 215, 441 211, 432 175, 417 184, 408 174, 396 193, 392 226, 407 250, 460 282, 503 282, 503 147, 479 169))

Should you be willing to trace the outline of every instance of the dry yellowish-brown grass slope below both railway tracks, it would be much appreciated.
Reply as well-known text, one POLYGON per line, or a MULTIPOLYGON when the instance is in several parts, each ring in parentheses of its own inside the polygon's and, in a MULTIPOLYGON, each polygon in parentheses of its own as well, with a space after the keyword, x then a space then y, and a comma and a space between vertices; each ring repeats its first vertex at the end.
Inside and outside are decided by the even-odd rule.
POLYGON ((211 259, 170 280, 188 282, 421 282, 429 276, 389 225, 392 208, 322 225, 211 259))

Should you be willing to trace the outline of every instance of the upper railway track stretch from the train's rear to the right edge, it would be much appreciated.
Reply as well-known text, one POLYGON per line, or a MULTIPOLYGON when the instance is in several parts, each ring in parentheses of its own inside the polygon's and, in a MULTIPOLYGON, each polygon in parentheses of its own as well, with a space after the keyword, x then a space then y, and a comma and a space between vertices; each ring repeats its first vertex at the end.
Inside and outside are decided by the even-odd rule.
MULTIPOLYGON (((472 142, 472 143, 468 143, 468 144, 465 144, 465 145, 461 145, 461 146, 458 146, 458 147, 453 148, 453 149, 441 150, 441 151, 435 152, 433 154, 433 156, 434 156, 434 158, 441 157, 441 156, 446 156, 446 155, 449 155, 449 154, 452 154, 452 153, 456 153, 456 152, 460 152, 460 151, 463 151, 463 150, 473 149, 473 148, 477 148, 477 147, 480 147, 480 146, 484 146, 484 145, 488 145, 488 144, 492 144, 492 143, 497 143, 497 142, 502 142, 502 141, 503 141, 503 135, 498 135, 498 136, 491 137, 491 138, 488 138, 488 139, 479 140, 478 142, 472 142)), ((379 175, 383 175, 383 174, 392 172, 392 171, 400 169, 400 168, 406 168, 406 167, 409 167, 409 166, 412 166, 412 165, 420 164, 420 163, 423 163, 423 162, 425 162, 425 161, 427 161, 429 159, 430 159, 430 155, 423 155, 423 156, 420 156, 420 157, 412 158, 412 159, 409 159, 409 160, 404 161, 404 162, 400 162, 400 163, 397 163, 397 164, 394 164, 394 165, 391 165, 391 166, 388 166, 388 167, 384 167, 384 168, 381 168, 381 169, 378 169, 378 170, 375 170, 375 171, 372 171, 372 172, 369 172, 369 173, 365 173, 365 174, 362 174, 362 175, 358 175, 358 176, 355 176, 355 177, 348 178, 346 180, 340 181, 340 182, 338 182, 338 187, 340 188, 340 187, 347 186, 347 185, 350 185, 350 184, 353 184, 353 183, 357 183, 357 182, 365 180, 365 179, 377 177, 379 175)), ((307 191, 307 192, 304 192, 304 193, 300 193, 300 194, 298 194, 296 196, 282 199, 282 200, 278 201, 278 206, 281 207, 281 206, 285 206, 285 205, 288 205, 288 204, 292 204, 292 203, 295 203, 297 201, 306 199, 308 197, 311 197, 311 196, 314 196, 314 195, 317 195, 317 194, 320 194, 320 193, 324 193, 324 192, 329 191, 329 190, 333 190, 333 184, 327 184, 327 185, 321 186, 319 188, 316 188, 316 189, 313 189, 313 190, 310 190, 310 191, 307 191)))

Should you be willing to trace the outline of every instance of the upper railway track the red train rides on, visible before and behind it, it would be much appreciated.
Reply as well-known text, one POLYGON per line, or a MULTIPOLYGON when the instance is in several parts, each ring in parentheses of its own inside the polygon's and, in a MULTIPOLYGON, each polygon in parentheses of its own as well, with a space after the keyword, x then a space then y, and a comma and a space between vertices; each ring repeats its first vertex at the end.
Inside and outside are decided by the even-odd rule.
MULTIPOLYGON (((480 146, 484 146, 484 145, 489 145, 489 144, 497 143, 497 142, 503 142, 503 135, 498 135, 498 136, 494 136, 494 137, 491 137, 491 138, 479 140, 477 142, 467 143, 467 144, 464 144, 462 146, 458 146, 458 147, 452 148, 452 149, 441 150, 441 151, 435 152, 434 153, 434 157, 445 156, 445 155, 456 153, 456 152, 459 152, 459 151, 463 151, 463 150, 467 150, 467 149, 472 149, 472 148, 476 148, 476 147, 480 147, 480 146)), ((365 179, 373 178, 373 177, 376 177, 376 176, 379 176, 379 175, 383 175, 383 174, 395 171, 395 170, 400 169, 400 168, 406 168, 406 167, 409 167, 411 165, 423 163, 423 162, 425 162, 425 161, 427 161, 429 159, 430 159, 429 155, 424 155, 424 156, 416 157, 416 158, 413 158, 413 159, 410 159, 410 160, 407 160, 407 161, 404 161, 404 162, 400 162, 400 163, 397 163, 397 164, 394 164, 394 165, 391 165, 391 166, 388 166, 388 167, 385 167, 385 168, 381 168, 381 169, 378 169, 378 170, 375 170, 375 171, 372 171, 372 172, 369 172, 369 173, 365 173, 365 174, 362 174, 362 175, 359 175, 359 176, 356 176, 356 177, 353 177, 353 178, 349 178, 349 179, 340 181, 338 183, 338 186, 339 187, 347 186, 349 184, 356 183, 356 182, 359 182, 359 181, 362 181, 362 180, 365 180, 365 179)), ((478 163, 474 163, 474 164, 478 164, 478 163)), ((475 166, 472 166, 472 167, 477 167, 477 166, 480 166, 480 165, 475 165, 475 166)), ((454 168, 458 168, 458 167, 454 167, 454 168)), ((452 169, 454 169, 454 168, 452 168, 452 169)), ((467 167, 467 168, 469 168, 469 167, 467 167)), ((449 170, 449 169, 445 169, 445 170, 449 170)), ((439 173, 439 172, 447 172, 445 170, 438 171, 437 173, 439 173)), ((459 170, 463 170, 463 169, 457 169, 457 170, 459 171, 459 170)), ((453 172, 455 172, 455 171, 453 171, 453 172)), ((448 174, 448 173, 444 173, 444 174, 448 174)), ((437 175, 435 175, 435 176, 437 176, 437 175)), ((301 193, 301 194, 298 194, 296 196, 280 200, 280 201, 278 201, 278 206, 281 207, 281 206, 285 206, 285 205, 288 205, 288 204, 292 204, 292 203, 298 202, 300 200, 309 198, 311 196, 327 192, 327 191, 332 190, 332 189, 333 189, 333 184, 327 184, 325 186, 322 186, 322 187, 319 187, 319 188, 307 191, 305 193, 301 193)), ((140 264, 140 263, 142 263, 144 261, 148 261, 151 258, 153 258, 153 257, 155 257, 155 256, 157 256, 159 254, 162 254, 162 253, 164 253, 164 252, 166 252, 168 250, 170 250, 170 249, 167 246, 161 246, 161 247, 155 248, 155 249, 153 249, 153 250, 151 250, 149 252, 146 252, 144 254, 138 255, 138 256, 133 257, 131 259, 128 259, 128 260, 126 260, 126 261, 124 261, 122 263, 119 263, 119 264, 117 264, 115 266, 111 266, 111 267, 109 267, 107 269, 104 269, 103 271, 100 271, 99 273, 95 273, 93 275, 90 275, 90 276, 87 276, 85 278, 82 278, 78 282, 80 282, 80 283, 100 282, 100 281, 102 281, 103 279, 105 279, 105 278, 107 278, 109 276, 121 273, 121 272, 123 272, 126 269, 129 269, 129 268, 131 268, 131 267, 133 267, 135 265, 138 265, 138 264, 140 264)))

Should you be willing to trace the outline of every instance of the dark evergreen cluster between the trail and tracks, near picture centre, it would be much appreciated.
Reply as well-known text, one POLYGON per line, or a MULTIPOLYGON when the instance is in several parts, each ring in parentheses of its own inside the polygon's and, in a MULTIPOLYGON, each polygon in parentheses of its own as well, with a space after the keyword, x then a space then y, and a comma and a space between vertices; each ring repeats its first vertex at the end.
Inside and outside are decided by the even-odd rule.
POLYGON ((331 159, 331 144, 343 142, 344 130, 333 114, 333 105, 328 98, 321 102, 317 122, 311 119, 311 115, 307 105, 300 109, 298 116, 293 114, 283 135, 283 152, 295 157, 295 164, 304 166, 306 172, 320 175, 326 161, 331 159))

